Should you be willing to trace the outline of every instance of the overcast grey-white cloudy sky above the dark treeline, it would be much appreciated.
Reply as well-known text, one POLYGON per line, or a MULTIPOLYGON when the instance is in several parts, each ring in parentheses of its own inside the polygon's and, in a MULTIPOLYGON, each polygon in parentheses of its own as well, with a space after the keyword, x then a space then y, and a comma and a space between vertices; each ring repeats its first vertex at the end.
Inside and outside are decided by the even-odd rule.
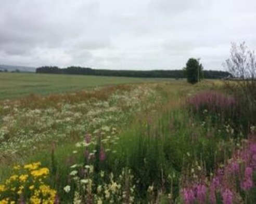
POLYGON ((254 0, 1 0, 0 64, 223 70, 255 19, 254 0))

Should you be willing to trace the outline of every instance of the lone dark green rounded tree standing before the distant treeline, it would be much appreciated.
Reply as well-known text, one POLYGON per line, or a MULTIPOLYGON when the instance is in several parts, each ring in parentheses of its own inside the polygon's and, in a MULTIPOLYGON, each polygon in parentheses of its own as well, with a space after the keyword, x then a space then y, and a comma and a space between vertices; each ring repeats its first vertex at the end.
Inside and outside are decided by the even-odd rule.
POLYGON ((199 63, 199 60, 190 58, 187 63, 186 67, 184 67, 185 75, 187 78, 188 83, 196 84, 198 83, 203 77, 203 66, 199 63))

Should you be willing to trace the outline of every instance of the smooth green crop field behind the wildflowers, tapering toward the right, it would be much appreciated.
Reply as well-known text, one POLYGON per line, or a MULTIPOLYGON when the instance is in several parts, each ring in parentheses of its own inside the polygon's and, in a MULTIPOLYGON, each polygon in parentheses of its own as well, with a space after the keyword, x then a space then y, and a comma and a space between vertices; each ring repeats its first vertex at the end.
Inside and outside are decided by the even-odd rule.
POLYGON ((172 80, 131 77, 54 75, 34 73, 0 73, 0 100, 30 94, 52 94, 78 91, 98 86, 172 80))

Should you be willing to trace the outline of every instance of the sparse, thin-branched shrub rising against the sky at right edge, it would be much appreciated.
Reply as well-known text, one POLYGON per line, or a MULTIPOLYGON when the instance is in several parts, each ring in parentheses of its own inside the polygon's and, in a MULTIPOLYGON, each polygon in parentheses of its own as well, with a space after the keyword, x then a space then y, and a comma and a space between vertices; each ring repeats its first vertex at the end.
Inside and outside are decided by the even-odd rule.
POLYGON ((226 80, 226 89, 234 93, 242 105, 245 128, 256 124, 256 56, 246 46, 232 44, 231 56, 225 66, 232 77, 226 80))

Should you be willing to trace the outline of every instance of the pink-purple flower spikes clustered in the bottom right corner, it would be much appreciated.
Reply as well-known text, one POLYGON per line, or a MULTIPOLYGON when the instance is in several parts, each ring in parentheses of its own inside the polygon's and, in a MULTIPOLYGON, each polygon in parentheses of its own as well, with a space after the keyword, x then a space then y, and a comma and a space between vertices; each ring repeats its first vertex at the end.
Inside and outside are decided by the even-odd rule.
POLYGON ((240 202, 239 189, 249 191, 253 186, 253 171, 256 170, 256 137, 250 135, 241 148, 234 152, 225 166, 218 168, 210 179, 209 186, 197 181, 186 185, 194 188, 182 188, 184 203, 212 203, 217 202, 216 193, 220 192, 224 204, 240 202), (206 196, 206 194, 208 196, 206 196))

